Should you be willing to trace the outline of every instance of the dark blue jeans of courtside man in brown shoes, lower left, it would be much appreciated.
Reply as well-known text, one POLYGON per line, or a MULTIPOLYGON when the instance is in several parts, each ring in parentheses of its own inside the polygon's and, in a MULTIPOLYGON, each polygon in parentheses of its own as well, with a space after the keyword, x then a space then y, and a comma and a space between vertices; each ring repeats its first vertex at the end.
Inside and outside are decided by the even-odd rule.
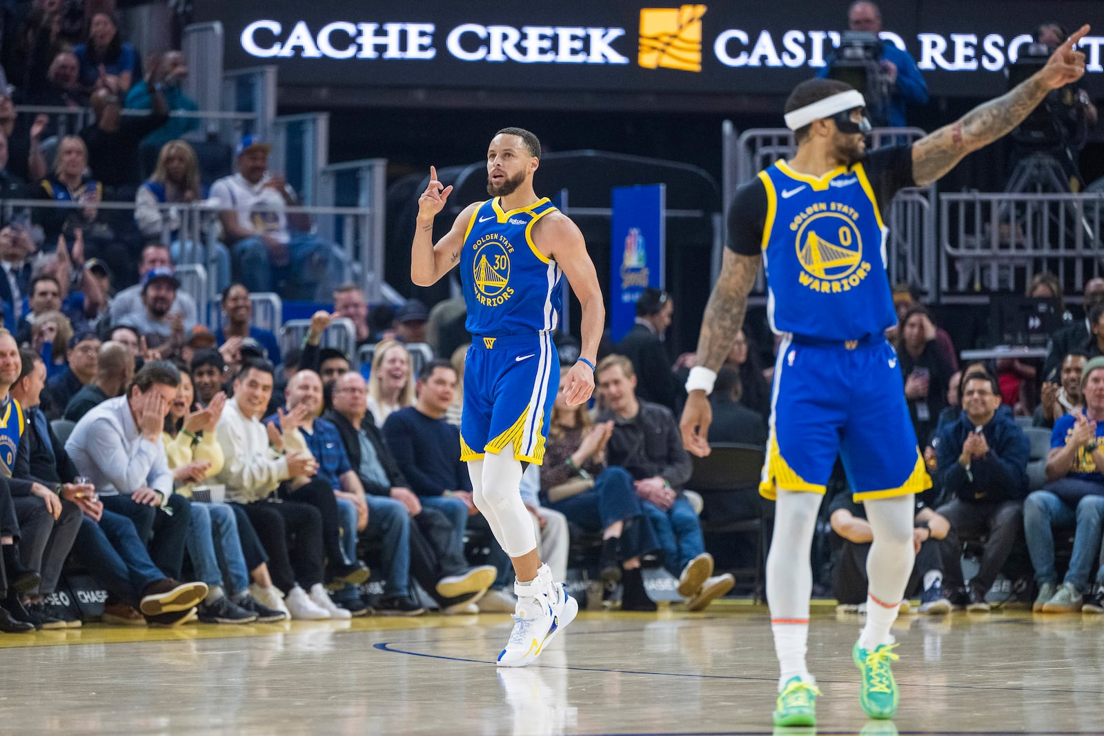
POLYGON ((82 518, 73 551, 98 583, 134 608, 146 586, 164 577, 130 520, 107 509, 98 524, 82 518))

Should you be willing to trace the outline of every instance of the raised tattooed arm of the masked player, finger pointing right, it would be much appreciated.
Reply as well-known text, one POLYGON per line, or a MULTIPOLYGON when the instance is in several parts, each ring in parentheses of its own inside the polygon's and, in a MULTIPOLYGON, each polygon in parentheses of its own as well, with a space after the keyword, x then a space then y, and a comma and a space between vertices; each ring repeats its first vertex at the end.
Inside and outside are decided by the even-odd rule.
POLYGON ((1078 42, 1089 33, 1083 25, 1059 46, 1047 65, 1031 77, 965 116, 917 140, 912 147, 912 175, 926 186, 951 171, 963 158, 1009 134, 1042 102, 1047 93, 1081 78, 1085 55, 1078 42))

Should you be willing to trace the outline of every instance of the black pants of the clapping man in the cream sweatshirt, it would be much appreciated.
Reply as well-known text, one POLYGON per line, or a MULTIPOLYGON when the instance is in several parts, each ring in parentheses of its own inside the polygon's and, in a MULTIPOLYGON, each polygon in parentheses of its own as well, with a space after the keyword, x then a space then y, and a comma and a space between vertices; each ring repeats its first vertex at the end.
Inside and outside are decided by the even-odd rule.
POLYGON ((287 593, 298 584, 309 590, 322 582, 322 519, 318 509, 297 501, 234 505, 245 511, 268 553, 268 573, 277 588, 287 593))

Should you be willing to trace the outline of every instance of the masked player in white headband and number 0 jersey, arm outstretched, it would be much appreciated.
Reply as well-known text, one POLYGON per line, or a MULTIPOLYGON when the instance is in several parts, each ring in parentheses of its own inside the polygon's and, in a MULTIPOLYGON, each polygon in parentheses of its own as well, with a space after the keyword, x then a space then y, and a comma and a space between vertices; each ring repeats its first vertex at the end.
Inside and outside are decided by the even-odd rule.
POLYGON ((702 318, 698 366, 687 381, 682 439, 709 454, 707 395, 744 321, 762 263, 767 312, 784 339, 774 371, 771 434, 760 492, 775 499, 766 564, 781 663, 774 723, 811 726, 819 694, 806 666, 809 547, 837 455, 873 531, 867 622, 852 650, 860 702, 872 718, 896 711, 890 627, 913 566, 913 493, 930 486, 909 420, 885 275, 884 213, 905 186, 924 186, 970 151, 1011 131, 1047 93, 1080 79, 1079 30, 1015 89, 911 146, 866 153, 862 95, 832 79, 799 84, 786 100, 797 153, 742 186, 729 213, 729 247, 702 318))

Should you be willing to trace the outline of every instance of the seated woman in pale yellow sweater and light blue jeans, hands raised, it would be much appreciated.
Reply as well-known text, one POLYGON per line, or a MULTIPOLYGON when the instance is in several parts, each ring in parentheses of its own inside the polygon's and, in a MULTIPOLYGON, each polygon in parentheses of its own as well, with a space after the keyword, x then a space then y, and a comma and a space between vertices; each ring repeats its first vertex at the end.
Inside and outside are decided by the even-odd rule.
POLYGON ((216 394, 206 408, 195 407, 192 378, 180 372, 180 390, 164 418, 161 441, 176 480, 177 492, 192 502, 192 526, 185 548, 195 576, 208 586, 208 596, 200 605, 199 617, 204 623, 272 623, 287 618, 284 609, 262 606, 250 595, 250 566, 246 559, 262 561, 254 567, 258 577, 272 585, 265 565, 264 547, 253 531, 248 516, 234 503, 211 503, 193 498, 197 483, 222 470, 223 455, 214 428, 226 404, 225 394, 216 394), (245 552, 248 546, 250 553, 245 552), (226 568, 226 586, 220 562, 226 568))

